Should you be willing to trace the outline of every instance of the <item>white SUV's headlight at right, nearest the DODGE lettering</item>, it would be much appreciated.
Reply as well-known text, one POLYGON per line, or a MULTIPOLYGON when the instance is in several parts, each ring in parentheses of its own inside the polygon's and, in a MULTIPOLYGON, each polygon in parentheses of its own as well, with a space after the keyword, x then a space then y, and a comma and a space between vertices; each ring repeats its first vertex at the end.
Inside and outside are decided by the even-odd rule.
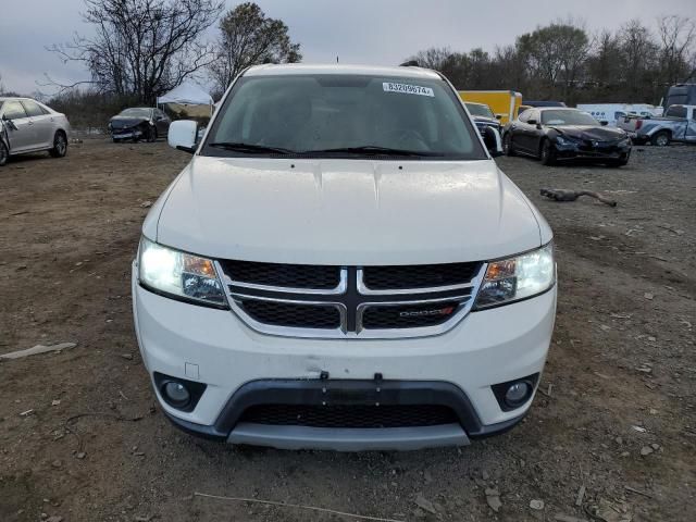
POLYGON ((475 309, 526 299, 548 290, 556 283, 554 245, 513 258, 492 261, 486 269, 475 309))

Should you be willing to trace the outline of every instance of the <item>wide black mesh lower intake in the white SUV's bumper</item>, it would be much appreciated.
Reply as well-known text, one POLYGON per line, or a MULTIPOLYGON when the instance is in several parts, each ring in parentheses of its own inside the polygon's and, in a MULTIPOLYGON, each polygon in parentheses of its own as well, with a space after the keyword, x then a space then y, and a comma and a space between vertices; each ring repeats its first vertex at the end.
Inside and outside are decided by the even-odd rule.
POLYGON ((445 406, 262 405, 247 409, 241 422, 312 427, 414 427, 459 422, 445 406))

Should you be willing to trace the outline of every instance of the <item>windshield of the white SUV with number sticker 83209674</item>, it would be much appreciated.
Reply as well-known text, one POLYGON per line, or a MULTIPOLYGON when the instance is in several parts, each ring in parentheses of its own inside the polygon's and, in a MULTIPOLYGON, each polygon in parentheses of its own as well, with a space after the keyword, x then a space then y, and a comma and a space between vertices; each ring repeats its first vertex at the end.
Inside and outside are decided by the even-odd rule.
POLYGON ((202 153, 485 159, 464 115, 440 79, 249 76, 220 109, 202 153))

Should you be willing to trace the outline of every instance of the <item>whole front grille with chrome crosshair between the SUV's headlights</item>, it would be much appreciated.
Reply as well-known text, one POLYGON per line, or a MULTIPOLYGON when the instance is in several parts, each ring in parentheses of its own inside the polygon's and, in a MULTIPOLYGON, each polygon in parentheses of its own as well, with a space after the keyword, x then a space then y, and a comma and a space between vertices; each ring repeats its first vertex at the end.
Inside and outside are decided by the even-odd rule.
POLYGON ((233 310, 257 331, 390 338, 443 333, 471 308, 484 263, 331 266, 221 261, 233 310), (285 328, 285 330, 284 330, 285 328), (409 330, 419 328, 409 334, 409 330))

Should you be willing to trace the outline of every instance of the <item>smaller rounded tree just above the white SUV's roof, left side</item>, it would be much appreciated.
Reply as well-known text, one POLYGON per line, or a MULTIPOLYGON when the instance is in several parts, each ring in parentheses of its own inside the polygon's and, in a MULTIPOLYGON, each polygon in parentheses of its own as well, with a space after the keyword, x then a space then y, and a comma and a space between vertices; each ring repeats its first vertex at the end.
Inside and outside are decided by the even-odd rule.
POLYGON ((281 20, 268 17, 252 2, 237 5, 220 21, 215 59, 208 70, 219 94, 250 65, 273 62, 299 62, 300 45, 294 44, 281 20))

